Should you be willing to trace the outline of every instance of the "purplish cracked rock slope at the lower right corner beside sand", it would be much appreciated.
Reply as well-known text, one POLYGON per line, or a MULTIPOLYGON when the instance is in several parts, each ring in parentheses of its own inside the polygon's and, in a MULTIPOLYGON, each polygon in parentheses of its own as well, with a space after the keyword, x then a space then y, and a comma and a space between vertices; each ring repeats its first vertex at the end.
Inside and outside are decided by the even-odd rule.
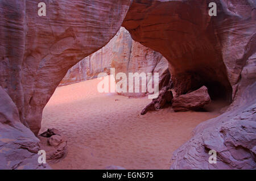
MULTIPOLYGON (((255 92, 256 85, 246 91, 255 92)), ((246 94, 244 99, 255 99, 246 94)), ((198 125, 191 140, 175 151, 171 169, 255 169, 256 104, 246 103, 198 125), (216 164, 208 162, 210 150, 217 153, 216 164)))

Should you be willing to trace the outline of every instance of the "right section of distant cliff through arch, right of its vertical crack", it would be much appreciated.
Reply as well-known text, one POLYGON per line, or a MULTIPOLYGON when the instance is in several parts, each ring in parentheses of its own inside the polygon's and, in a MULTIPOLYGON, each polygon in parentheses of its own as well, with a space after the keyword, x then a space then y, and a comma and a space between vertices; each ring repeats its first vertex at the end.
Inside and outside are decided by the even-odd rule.
MULTIPOLYGON (((117 47, 115 49, 118 50, 113 49, 114 56, 111 63, 112 68, 115 68, 115 75, 121 72, 125 73, 127 75, 127 82, 129 82, 129 73, 153 73, 153 75, 154 73, 159 73, 159 87, 161 89, 163 87, 163 82, 166 79, 170 79, 166 58, 164 58, 162 54, 132 40, 130 33, 127 30, 121 30, 121 37, 118 37, 117 42, 113 45, 114 47, 117 47)), ((137 93, 135 93, 134 90, 130 93, 119 94, 132 97, 145 96, 146 93, 141 91, 141 86, 142 85, 140 85, 140 91, 137 93)), ((128 90, 129 86, 127 87, 127 91, 128 90)))

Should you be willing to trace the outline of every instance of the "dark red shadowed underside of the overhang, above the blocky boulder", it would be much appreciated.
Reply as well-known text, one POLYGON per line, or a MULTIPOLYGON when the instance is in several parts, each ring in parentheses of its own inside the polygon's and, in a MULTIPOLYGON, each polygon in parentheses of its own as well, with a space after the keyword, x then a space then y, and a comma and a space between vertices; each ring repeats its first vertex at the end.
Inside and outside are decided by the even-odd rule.
POLYGON ((134 1, 123 26, 135 41, 167 58, 178 95, 216 82, 231 98, 217 18, 208 15, 207 1, 134 1))

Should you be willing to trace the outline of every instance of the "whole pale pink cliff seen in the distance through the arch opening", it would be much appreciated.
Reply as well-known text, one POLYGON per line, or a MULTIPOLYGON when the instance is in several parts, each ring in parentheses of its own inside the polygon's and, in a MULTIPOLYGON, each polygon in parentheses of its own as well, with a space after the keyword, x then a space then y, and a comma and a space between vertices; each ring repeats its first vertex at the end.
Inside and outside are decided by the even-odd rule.
MULTIPOLYGON (((101 72, 110 74, 110 68, 115 69, 115 75, 122 72, 127 77, 129 73, 159 73, 160 89, 164 81, 170 79, 166 58, 162 54, 131 39, 130 33, 121 27, 117 35, 105 47, 84 58, 69 69, 60 82, 60 86, 97 78, 97 75, 101 72)), ((140 90, 138 93, 120 94, 144 96, 146 92, 140 90)))

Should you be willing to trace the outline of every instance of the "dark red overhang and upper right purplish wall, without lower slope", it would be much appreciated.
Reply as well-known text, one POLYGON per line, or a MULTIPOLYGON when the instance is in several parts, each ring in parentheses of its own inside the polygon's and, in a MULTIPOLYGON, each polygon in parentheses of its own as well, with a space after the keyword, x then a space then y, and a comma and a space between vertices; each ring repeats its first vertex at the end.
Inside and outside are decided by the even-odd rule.
POLYGON ((203 85, 216 95, 215 83, 231 100, 254 39, 252 9, 249 1, 134 1, 122 26, 167 58, 178 95, 203 85), (208 15, 209 2, 217 16, 208 15))

